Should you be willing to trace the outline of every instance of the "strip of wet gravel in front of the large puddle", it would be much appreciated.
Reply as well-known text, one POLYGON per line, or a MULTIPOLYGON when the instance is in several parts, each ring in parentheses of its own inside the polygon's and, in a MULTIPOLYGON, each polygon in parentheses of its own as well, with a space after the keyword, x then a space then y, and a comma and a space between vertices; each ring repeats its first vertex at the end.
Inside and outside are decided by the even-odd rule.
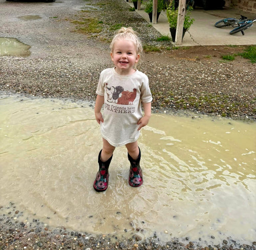
MULTIPOLYGON (((48 218, 50 219, 50 218, 48 218)), ((218 244, 209 244, 199 238, 190 241, 188 237, 170 237, 162 242, 155 233, 152 237, 142 239, 134 229, 129 236, 116 237, 115 235, 92 235, 86 232, 77 232, 65 227, 52 228, 35 215, 26 218, 23 211, 18 210, 15 203, 10 202, 6 207, 0 206, 0 249, 237 249, 255 250, 256 241, 244 244, 232 238, 223 239, 218 244), (34 218, 33 218, 34 217, 34 218), (137 234, 136 234, 137 233, 137 234)), ((215 236, 211 236, 214 239, 215 236)))

